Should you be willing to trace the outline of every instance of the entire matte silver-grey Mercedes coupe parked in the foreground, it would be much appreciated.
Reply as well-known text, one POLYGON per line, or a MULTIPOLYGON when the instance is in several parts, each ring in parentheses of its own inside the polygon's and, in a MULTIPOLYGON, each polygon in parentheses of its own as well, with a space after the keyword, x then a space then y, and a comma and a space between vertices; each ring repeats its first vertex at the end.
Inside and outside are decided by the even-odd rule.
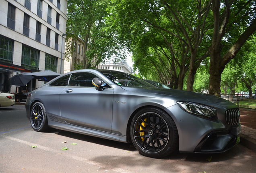
POLYGON ((202 93, 160 89, 131 74, 86 69, 32 91, 27 117, 49 127, 125 143, 147 157, 222 153, 239 143, 237 105, 202 93))

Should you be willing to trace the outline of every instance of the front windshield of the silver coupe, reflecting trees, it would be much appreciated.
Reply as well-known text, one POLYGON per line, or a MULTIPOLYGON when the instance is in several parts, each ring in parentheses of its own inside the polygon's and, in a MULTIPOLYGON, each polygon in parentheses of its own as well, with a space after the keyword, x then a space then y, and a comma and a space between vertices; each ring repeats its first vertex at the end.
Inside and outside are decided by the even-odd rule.
POLYGON ((150 84, 145 80, 142 80, 141 78, 133 76, 132 74, 114 70, 100 70, 100 72, 120 86, 157 88, 153 84, 150 84))

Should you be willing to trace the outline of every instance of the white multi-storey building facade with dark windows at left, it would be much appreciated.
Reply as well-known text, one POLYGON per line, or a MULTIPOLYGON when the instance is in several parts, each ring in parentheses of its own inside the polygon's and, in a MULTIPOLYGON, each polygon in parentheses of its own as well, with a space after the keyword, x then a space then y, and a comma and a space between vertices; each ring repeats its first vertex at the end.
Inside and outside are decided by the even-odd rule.
MULTIPOLYGON (((0 1, 0 90, 17 93, 6 78, 21 72, 63 73, 67 0, 0 1)), ((31 80, 26 89, 42 84, 31 80)))

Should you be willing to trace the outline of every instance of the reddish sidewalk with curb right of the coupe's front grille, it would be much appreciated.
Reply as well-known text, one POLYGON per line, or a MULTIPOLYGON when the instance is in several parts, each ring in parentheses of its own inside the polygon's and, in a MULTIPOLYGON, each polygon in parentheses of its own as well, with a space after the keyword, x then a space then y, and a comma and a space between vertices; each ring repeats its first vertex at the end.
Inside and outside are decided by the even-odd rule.
POLYGON ((248 149, 253 150, 256 152, 256 129, 255 126, 247 127, 245 125, 249 126, 249 123, 256 124, 256 110, 254 109, 244 109, 240 108, 240 112, 246 111, 246 113, 241 114, 241 122, 242 122, 242 132, 239 135, 241 138, 240 144, 244 145, 248 149), (246 116, 246 118, 245 118, 246 116), (248 118, 250 117, 250 118, 248 118), (243 121, 242 121, 243 120, 243 121))

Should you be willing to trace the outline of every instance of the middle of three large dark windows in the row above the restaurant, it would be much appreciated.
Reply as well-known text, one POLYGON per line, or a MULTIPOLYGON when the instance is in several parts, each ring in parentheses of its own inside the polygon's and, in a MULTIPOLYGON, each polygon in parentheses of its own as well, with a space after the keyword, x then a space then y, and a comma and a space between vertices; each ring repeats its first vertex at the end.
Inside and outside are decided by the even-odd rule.
POLYGON ((37 69, 39 67, 39 50, 22 45, 21 65, 26 69, 37 69))

